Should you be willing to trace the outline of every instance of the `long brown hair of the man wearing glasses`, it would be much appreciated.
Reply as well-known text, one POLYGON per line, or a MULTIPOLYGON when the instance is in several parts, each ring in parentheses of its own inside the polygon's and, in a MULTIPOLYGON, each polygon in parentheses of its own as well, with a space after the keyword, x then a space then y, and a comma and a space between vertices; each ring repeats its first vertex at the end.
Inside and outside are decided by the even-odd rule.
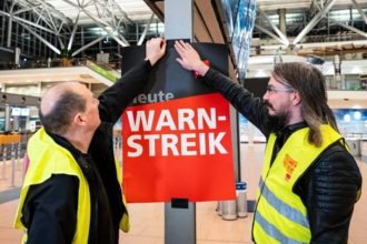
POLYGON ((300 62, 278 63, 274 67, 272 75, 299 92, 301 113, 310 129, 309 143, 321 145, 321 124, 329 124, 338 131, 333 111, 327 104, 325 78, 316 67, 300 62))

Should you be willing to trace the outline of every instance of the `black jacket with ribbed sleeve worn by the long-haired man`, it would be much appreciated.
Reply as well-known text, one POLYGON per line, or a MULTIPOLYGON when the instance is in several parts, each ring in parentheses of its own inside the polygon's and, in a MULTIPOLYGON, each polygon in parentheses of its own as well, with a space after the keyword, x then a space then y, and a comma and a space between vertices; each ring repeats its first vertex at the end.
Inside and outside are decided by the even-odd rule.
MULTIPOLYGON (((209 69, 204 81, 218 90, 266 138, 269 136, 271 123, 260 98, 255 98, 240 84, 214 69, 209 69)), ((307 125, 294 124, 278 132, 275 154, 292 132, 304 126, 307 125)), ((311 243, 337 244, 348 241, 354 204, 360 194, 361 175, 356 161, 341 143, 336 142, 327 148, 294 187, 307 209, 311 243)))

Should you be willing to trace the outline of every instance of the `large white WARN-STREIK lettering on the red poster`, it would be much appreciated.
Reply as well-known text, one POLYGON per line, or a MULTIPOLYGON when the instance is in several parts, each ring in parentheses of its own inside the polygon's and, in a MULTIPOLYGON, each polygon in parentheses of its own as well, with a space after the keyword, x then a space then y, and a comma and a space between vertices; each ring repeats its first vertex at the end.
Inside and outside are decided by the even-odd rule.
POLYGON ((218 122, 227 118, 217 116, 215 108, 127 111, 127 119, 130 157, 228 154, 226 132, 218 131, 218 122))

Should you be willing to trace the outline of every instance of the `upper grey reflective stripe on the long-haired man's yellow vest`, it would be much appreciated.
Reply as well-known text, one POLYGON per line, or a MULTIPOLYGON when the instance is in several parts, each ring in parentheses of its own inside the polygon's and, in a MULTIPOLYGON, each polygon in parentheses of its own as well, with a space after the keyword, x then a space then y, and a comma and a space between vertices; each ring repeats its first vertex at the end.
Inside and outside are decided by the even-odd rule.
MULTIPOLYGON (((260 180, 262 182, 262 179, 260 180)), ((264 183, 262 183, 264 184, 264 183)), ((307 217, 297 209, 282 202, 278 196, 276 196, 265 184, 262 189, 262 197, 270 202, 271 205, 279 212, 279 214, 287 216, 291 222, 295 222, 304 227, 309 228, 307 217)))

